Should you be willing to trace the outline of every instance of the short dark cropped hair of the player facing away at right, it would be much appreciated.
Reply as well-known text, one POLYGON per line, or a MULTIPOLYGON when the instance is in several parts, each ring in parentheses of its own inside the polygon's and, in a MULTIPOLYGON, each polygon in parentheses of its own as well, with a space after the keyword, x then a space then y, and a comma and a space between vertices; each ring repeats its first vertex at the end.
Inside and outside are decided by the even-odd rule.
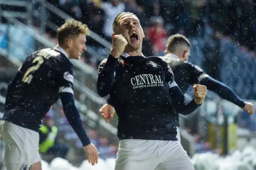
POLYGON ((167 40, 166 51, 174 53, 181 46, 187 46, 188 48, 190 48, 191 44, 188 38, 186 38, 185 36, 181 34, 174 34, 170 36, 167 40))

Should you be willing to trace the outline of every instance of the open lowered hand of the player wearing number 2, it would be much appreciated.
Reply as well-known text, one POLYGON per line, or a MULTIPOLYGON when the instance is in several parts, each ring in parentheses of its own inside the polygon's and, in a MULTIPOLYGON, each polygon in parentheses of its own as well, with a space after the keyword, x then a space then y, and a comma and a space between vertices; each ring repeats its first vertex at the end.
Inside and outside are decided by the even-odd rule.
POLYGON ((94 144, 90 143, 87 146, 84 146, 84 152, 86 152, 88 161, 90 164, 94 165, 98 163, 99 152, 94 144))

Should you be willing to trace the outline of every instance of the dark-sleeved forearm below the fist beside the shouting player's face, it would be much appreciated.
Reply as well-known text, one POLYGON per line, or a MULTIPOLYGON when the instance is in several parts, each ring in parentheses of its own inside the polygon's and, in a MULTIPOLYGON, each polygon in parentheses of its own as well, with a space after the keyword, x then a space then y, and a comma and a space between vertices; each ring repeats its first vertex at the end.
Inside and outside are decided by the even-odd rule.
POLYGON ((99 73, 97 81, 97 92, 101 97, 105 97, 110 93, 114 83, 117 62, 117 58, 109 55, 105 66, 99 73))

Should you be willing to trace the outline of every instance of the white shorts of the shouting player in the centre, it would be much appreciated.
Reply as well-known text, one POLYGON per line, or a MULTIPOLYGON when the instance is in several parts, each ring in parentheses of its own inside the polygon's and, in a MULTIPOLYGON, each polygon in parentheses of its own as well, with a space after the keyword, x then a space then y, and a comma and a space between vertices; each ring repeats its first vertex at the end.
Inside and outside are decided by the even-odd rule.
POLYGON ((194 170, 177 141, 120 140, 115 170, 194 170))

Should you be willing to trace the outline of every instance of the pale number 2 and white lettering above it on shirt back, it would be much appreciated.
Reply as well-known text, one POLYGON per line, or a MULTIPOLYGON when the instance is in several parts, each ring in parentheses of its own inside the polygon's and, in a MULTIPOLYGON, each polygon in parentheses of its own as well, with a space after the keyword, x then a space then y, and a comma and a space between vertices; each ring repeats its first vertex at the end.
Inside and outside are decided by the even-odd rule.
POLYGON ((32 81, 33 75, 30 73, 34 73, 34 71, 39 69, 40 65, 42 63, 44 63, 44 58, 49 59, 52 56, 58 56, 58 55, 60 55, 60 53, 53 49, 51 49, 51 50, 42 49, 41 51, 39 51, 37 53, 37 57, 32 62, 32 63, 36 63, 36 65, 33 65, 26 71, 26 73, 24 74, 24 76, 22 78, 22 82, 29 84, 32 81))

